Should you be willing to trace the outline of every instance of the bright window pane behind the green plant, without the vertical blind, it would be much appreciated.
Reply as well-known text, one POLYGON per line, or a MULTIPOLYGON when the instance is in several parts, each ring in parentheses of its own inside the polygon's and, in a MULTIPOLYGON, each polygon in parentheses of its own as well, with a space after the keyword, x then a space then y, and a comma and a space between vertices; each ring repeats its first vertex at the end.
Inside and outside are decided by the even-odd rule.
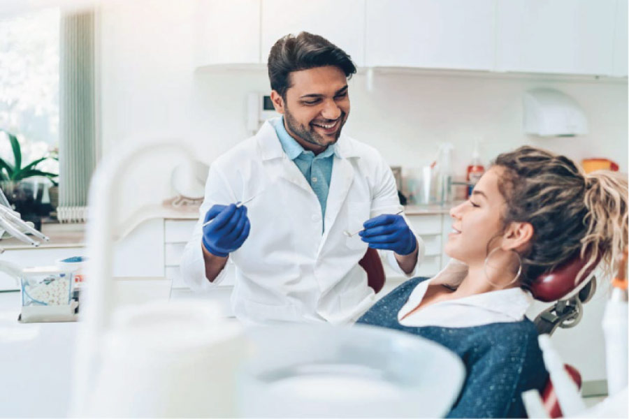
MULTIPOLYGON (((48 8, 0 20, 0 128, 17 135, 23 164, 59 145, 59 15, 48 8)), ((1 137, 0 157, 13 162, 1 137)), ((38 168, 58 173, 58 166, 48 160, 38 168)))

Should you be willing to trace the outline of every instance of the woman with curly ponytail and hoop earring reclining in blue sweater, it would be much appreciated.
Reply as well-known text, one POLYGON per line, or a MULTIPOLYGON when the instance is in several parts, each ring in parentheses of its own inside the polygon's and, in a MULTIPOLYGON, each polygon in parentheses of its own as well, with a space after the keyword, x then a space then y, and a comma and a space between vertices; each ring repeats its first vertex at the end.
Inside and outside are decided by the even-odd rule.
POLYGON ((533 147, 500 154, 470 199, 450 210, 436 277, 398 286, 358 323, 403 330, 457 353, 466 368, 449 417, 523 417, 521 393, 548 379, 525 311, 540 274, 581 255, 602 267, 627 244, 627 180, 584 175, 565 156, 533 147))

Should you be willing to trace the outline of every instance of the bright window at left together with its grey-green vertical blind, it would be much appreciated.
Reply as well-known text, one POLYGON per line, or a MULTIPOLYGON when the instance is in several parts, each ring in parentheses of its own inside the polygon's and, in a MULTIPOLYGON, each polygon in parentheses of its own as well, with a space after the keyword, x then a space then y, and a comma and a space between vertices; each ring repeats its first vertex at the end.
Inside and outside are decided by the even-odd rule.
MULTIPOLYGON (((37 168, 59 173, 61 222, 85 221, 96 166, 94 24, 93 10, 0 18, 0 129, 17 135, 22 166, 58 150, 37 168)), ((0 157, 13 163, 4 136, 0 157)))

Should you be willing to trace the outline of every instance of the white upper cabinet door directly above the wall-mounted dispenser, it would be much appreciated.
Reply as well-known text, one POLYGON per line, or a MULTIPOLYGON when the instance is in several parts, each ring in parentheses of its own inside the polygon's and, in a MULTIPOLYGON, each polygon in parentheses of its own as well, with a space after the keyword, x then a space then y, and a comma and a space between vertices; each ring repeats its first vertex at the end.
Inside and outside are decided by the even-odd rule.
POLYGON ((616 0, 498 0, 498 71, 612 73, 616 0))

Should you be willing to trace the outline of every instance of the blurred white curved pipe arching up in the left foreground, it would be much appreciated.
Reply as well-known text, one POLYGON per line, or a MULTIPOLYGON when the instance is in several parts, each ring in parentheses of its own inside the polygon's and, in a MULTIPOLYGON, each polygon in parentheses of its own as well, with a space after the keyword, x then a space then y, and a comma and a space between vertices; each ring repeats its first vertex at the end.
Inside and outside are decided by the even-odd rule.
POLYGON ((194 154, 181 142, 164 141, 136 145, 126 152, 110 154, 96 168, 89 187, 87 220, 87 266, 89 284, 82 296, 80 333, 77 338, 71 416, 82 417, 87 411, 90 391, 94 390, 94 367, 98 360, 101 337, 108 330, 113 311, 113 234, 114 215, 122 197, 118 187, 127 178, 129 168, 155 154, 180 154, 190 161, 194 154))

